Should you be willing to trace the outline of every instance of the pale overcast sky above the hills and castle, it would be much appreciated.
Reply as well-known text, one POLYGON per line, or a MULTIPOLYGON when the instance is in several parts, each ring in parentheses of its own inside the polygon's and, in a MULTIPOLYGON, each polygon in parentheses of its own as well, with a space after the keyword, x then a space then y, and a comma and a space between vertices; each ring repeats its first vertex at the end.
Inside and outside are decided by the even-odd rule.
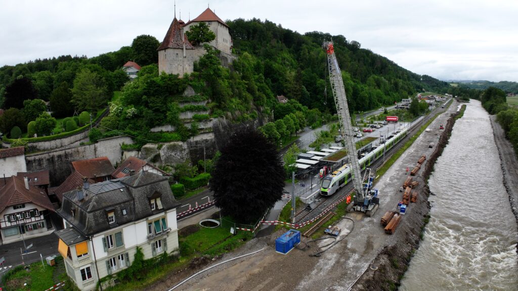
MULTIPOLYGON (((162 41, 173 0, 0 0, 0 66, 96 56, 149 34, 162 41)), ((207 5, 223 19, 268 19, 301 34, 341 34, 417 74, 518 81, 518 1, 177 0, 177 17, 207 5)))

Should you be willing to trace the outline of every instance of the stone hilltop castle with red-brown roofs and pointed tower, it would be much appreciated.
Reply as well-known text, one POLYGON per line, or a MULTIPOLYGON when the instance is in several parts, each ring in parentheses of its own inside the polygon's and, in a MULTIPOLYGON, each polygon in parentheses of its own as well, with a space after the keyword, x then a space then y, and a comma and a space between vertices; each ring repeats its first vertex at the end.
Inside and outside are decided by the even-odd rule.
POLYGON ((185 35, 189 27, 199 22, 205 22, 214 33, 215 38, 208 44, 224 54, 231 54, 232 39, 226 23, 210 8, 207 8, 197 18, 184 23, 176 16, 162 41, 159 51, 159 72, 167 74, 190 74, 194 70, 194 62, 205 54, 203 47, 195 47, 185 35))

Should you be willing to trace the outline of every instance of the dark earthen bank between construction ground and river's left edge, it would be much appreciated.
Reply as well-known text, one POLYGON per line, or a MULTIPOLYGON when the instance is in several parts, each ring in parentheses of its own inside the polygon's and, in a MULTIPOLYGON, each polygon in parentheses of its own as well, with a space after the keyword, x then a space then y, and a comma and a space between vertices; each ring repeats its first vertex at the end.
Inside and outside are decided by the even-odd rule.
POLYGON ((397 232, 404 232, 404 235, 395 236, 395 241, 392 244, 383 247, 362 277, 353 285, 352 290, 396 290, 399 286, 412 255, 419 248, 422 230, 428 223, 428 212, 430 210, 428 196, 430 191, 427 179, 434 169, 437 158, 448 144, 457 115, 462 113, 463 111, 450 115, 434 152, 427 157, 423 172, 415 179, 420 182, 420 186, 417 188, 419 192, 418 202, 411 203, 409 212, 402 217, 402 221, 396 230, 397 232))

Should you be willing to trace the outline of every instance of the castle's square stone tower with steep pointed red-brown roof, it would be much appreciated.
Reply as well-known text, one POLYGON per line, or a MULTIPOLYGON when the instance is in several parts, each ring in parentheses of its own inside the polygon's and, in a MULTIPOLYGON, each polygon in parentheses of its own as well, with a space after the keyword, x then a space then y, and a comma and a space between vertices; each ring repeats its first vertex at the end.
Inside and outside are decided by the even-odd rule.
POLYGON ((159 51, 159 72, 167 74, 183 74, 193 72, 194 47, 183 34, 178 20, 173 19, 159 51))

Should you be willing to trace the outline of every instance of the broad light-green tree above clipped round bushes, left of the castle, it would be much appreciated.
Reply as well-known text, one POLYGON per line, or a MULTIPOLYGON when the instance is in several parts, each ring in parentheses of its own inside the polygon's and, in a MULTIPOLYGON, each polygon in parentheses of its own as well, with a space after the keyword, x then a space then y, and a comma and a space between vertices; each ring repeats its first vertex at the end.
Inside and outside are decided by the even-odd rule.
POLYGON ((74 79, 72 95, 72 103, 81 111, 95 112, 108 102, 104 79, 87 68, 81 70, 74 79))

